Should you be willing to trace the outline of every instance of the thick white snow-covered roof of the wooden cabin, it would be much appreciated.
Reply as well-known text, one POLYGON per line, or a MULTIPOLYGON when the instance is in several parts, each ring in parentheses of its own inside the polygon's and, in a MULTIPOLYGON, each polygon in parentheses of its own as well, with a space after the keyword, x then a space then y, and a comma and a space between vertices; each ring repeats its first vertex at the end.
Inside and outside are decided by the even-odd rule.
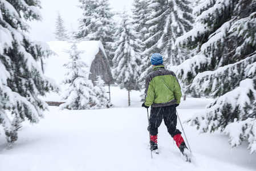
MULTIPOLYGON (((47 43, 50 46, 50 50, 54 51, 55 55, 52 54, 48 56, 48 58, 43 59, 44 75, 55 80, 56 84, 60 87, 59 93, 61 94, 61 91, 64 91, 65 89, 62 82, 65 78, 65 74, 68 72, 67 68, 64 67, 64 64, 70 60, 70 55, 66 50, 70 50, 72 43, 68 43, 66 41, 53 41, 47 43)), ((76 46, 79 51, 83 51, 83 53, 80 54, 80 57, 87 64, 89 70, 91 68, 92 61, 95 59, 95 55, 100 50, 105 55, 104 47, 99 41, 82 41, 77 43, 76 46)), ((46 96, 41 99, 45 101, 63 101, 62 98, 54 92, 47 93, 46 96)))

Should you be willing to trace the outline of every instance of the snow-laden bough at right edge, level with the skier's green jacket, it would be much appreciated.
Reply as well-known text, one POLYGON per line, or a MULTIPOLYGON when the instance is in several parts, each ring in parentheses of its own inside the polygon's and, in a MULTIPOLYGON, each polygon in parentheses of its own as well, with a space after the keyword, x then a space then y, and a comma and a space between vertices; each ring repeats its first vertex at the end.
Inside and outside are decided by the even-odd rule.
POLYGON ((223 95, 229 89, 238 87, 239 82, 255 74, 256 54, 237 63, 220 67, 215 71, 205 71, 198 74, 192 83, 192 87, 199 92, 210 93, 210 96, 223 95))

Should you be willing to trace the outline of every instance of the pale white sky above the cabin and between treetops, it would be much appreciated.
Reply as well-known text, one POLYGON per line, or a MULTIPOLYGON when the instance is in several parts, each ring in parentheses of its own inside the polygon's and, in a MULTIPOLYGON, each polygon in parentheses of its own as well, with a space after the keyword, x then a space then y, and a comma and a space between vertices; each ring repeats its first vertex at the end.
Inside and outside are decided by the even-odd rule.
MULTIPOLYGON (((78 7, 78 0, 40 0, 42 10, 42 22, 29 22, 31 27, 30 38, 42 42, 49 42, 55 39, 55 23, 58 11, 62 17, 67 30, 78 28, 78 19, 82 17, 83 11, 78 7)), ((133 0, 109 0, 114 11, 124 9, 131 10, 133 0)))

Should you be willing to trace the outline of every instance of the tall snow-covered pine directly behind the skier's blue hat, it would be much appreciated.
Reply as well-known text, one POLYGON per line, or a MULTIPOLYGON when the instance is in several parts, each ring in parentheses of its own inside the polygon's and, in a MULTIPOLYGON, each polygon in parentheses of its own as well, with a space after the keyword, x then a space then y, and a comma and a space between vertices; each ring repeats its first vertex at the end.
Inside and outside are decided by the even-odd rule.
POLYGON ((145 50, 142 53, 141 82, 152 71, 150 57, 159 52, 164 58, 164 65, 178 65, 189 58, 189 51, 175 44, 176 39, 192 28, 192 2, 180 0, 147 0, 149 16, 144 22, 146 40, 145 50))

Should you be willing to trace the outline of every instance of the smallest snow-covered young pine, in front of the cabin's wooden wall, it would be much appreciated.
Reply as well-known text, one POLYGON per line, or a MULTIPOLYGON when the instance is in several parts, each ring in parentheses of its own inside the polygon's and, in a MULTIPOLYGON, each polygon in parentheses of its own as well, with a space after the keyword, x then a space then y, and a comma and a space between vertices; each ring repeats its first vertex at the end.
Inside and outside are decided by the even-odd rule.
POLYGON ((97 80, 95 81, 95 86, 94 86, 94 92, 96 93, 96 101, 93 107, 94 109, 107 108, 108 96, 104 86, 105 86, 105 82, 102 79, 102 76, 97 76, 97 80))

